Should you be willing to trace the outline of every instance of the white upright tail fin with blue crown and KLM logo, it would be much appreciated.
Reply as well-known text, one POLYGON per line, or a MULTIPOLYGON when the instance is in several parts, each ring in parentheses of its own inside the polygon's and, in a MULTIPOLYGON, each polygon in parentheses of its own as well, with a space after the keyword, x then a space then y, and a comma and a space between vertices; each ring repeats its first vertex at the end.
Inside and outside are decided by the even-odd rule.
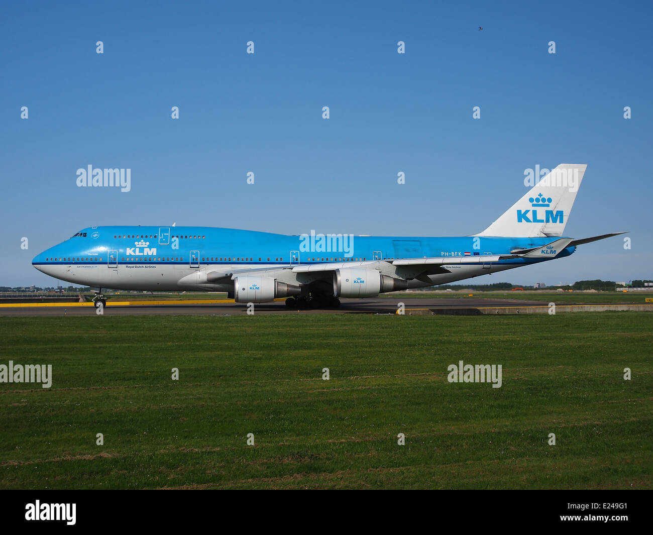
POLYGON ((517 203, 474 236, 562 236, 587 165, 561 163, 517 203))

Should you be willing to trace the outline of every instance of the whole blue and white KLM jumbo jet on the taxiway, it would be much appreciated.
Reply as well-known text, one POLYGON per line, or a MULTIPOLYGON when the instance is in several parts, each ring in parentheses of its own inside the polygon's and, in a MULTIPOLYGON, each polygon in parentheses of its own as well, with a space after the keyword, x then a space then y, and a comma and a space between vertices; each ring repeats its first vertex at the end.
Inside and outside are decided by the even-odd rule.
POLYGON ((32 265, 95 291, 226 291, 236 302, 286 298, 289 308, 337 308, 376 297, 533 265, 622 232, 563 236, 584 164, 560 164, 481 233, 457 237, 279 235, 217 227, 82 229, 32 265))

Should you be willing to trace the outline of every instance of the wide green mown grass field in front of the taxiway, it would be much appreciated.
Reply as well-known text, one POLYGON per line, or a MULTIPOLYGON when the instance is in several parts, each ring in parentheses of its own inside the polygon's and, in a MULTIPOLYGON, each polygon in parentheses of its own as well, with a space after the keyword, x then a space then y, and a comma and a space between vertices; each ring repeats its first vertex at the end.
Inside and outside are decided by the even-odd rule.
POLYGON ((650 489, 652 332, 648 312, 2 317, 0 364, 53 384, 0 383, 0 488, 650 489), (502 387, 449 383, 459 360, 502 387))

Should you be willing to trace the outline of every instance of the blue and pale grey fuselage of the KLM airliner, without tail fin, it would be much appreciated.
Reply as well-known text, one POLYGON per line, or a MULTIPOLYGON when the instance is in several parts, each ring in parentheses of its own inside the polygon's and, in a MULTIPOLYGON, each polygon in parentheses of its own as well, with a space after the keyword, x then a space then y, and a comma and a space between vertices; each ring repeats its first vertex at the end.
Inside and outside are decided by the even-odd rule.
MULTIPOLYGON (((551 240, 550 237, 343 236, 313 232, 289 236, 215 227, 89 227, 37 255, 33 265, 59 280, 91 287, 230 291, 232 282, 211 284, 211 277, 218 280, 215 273, 230 270, 240 273, 281 270, 283 279, 298 265, 343 263, 358 267, 370 261, 451 258, 448 272, 429 274, 421 280, 416 277, 409 284, 409 287, 423 287, 545 261, 549 258, 498 260, 496 255, 537 248, 551 240), (488 258, 488 262, 479 263, 479 257, 490 256, 494 256, 492 261, 488 258)), ((575 247, 569 247, 555 251, 551 258, 567 256, 574 250, 575 247)), ((304 274, 285 282, 310 284, 314 279, 304 274)))

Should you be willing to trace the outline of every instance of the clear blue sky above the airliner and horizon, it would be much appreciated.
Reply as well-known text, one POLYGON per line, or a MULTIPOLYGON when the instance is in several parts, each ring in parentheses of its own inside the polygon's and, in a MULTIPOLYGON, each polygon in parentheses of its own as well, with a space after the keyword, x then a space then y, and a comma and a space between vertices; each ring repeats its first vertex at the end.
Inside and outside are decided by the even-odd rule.
POLYGON ((588 164, 565 234, 631 249, 485 282, 653 278, 653 8, 525 4, 5 3, 0 285, 54 285, 31 259, 91 225, 469 235, 558 163, 588 164))

